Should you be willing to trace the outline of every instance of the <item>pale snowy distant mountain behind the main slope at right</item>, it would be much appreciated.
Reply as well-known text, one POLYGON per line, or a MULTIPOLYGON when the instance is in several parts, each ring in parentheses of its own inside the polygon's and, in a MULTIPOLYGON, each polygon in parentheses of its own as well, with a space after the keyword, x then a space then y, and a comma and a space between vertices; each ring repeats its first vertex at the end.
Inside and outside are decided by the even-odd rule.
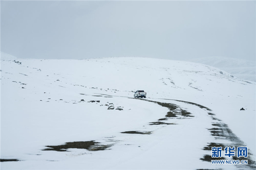
POLYGON ((256 82, 256 62, 246 59, 235 59, 229 57, 203 57, 189 59, 187 61, 197 62, 212 67, 220 68, 240 79, 256 82))

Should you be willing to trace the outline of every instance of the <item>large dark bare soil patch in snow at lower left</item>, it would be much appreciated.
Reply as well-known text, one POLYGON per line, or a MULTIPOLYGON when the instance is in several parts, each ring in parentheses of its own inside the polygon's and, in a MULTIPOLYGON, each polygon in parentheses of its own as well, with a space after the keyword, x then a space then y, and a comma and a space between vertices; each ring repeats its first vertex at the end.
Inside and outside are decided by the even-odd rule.
POLYGON ((62 145, 58 146, 46 146, 50 147, 44 150, 55 150, 59 152, 67 151, 69 148, 77 148, 77 149, 87 149, 90 151, 97 151, 97 150, 105 150, 108 147, 111 147, 111 145, 101 145, 99 142, 94 141, 86 141, 86 142, 67 142, 62 145))

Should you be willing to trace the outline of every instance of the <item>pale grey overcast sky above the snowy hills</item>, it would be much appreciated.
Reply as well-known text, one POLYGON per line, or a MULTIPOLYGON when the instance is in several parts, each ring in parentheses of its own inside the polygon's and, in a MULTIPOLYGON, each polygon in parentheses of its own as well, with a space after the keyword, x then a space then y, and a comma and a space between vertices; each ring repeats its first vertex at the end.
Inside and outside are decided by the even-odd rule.
POLYGON ((256 1, 1 1, 20 58, 256 59, 256 1))

